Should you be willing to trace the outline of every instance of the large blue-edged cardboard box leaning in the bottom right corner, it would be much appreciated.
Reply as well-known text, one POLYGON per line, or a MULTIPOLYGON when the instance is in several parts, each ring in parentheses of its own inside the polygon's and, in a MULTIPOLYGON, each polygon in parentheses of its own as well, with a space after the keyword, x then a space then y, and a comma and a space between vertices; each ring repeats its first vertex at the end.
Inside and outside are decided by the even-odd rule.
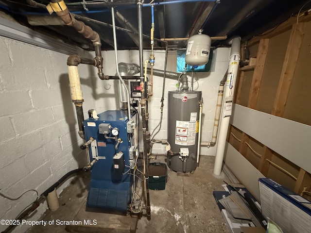
POLYGON ((262 215, 275 221, 284 233, 310 233, 310 201, 267 178, 259 178, 259 193, 262 215))

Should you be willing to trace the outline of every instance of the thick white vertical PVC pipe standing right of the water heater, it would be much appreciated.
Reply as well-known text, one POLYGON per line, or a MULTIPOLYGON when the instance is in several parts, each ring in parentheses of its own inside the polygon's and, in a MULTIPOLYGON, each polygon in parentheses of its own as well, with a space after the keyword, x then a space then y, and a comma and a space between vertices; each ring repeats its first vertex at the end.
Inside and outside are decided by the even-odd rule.
POLYGON ((237 80, 238 69, 239 69, 240 48, 241 48, 241 38, 240 37, 233 38, 232 44, 231 44, 231 53, 230 53, 230 59, 229 59, 227 80, 225 83, 222 116, 221 116, 221 121, 220 121, 218 143, 217 143, 216 157, 215 157, 215 164, 214 164, 215 175, 221 174, 222 166, 223 166, 223 159, 224 159, 224 153, 225 153, 225 142, 226 142, 229 121, 230 121, 230 116, 224 115, 225 114, 224 108, 226 107, 225 101, 228 97, 233 97, 233 94, 234 94, 235 83, 237 80))

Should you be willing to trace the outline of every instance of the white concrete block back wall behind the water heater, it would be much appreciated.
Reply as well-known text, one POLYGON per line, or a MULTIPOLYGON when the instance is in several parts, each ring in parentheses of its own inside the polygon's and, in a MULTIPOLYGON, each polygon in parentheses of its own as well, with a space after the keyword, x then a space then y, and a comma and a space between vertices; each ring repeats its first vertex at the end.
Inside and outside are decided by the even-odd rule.
MULTIPOLYGON (((216 100, 218 94, 218 86, 220 81, 223 79, 229 61, 229 48, 218 48, 214 51, 213 60, 212 60, 212 71, 200 73, 197 72, 194 75, 194 78, 197 78, 197 82, 194 82, 194 89, 202 91, 202 97, 204 102, 203 107, 203 122, 202 122, 202 134, 201 138, 203 141, 210 141, 213 124, 214 124, 214 116, 215 116, 215 108, 216 108, 216 100)), ((150 56, 150 51, 146 50, 143 53, 144 61, 148 60, 150 56)), ((139 54, 138 50, 122 50, 118 51, 119 63, 120 62, 129 62, 139 64, 139 54)), ((155 50, 155 69, 164 69, 165 63, 165 51, 164 50, 155 50)), ((149 66, 149 65, 148 65, 149 66)), ((176 53, 170 51, 168 55, 167 62, 167 70, 176 72, 176 53)), ((105 51, 104 52, 104 73, 107 75, 115 75, 116 74, 116 63, 114 60, 114 51, 105 51)), ((188 74, 190 80, 190 73, 188 74)), ((106 108, 109 104, 114 108, 119 107, 119 97, 116 93, 118 93, 117 81, 98 81, 96 83, 96 90, 98 93, 102 92, 102 94, 98 94, 96 101, 96 109, 98 112, 101 112, 104 108, 106 108), (98 83, 98 84, 97 84, 98 83), (109 87, 109 89, 108 89, 109 87), (106 99, 108 97, 108 99, 106 99), (114 97, 117 97, 114 99, 114 97)), ((156 125, 159 123, 160 118, 160 100, 162 96, 162 77, 154 77, 154 95, 149 100, 149 131, 152 133, 155 129, 156 125)), ((155 134, 154 139, 167 139, 167 95, 168 91, 176 89, 177 81, 172 79, 166 79, 165 83, 165 93, 164 93, 164 109, 163 109, 163 120, 161 124, 161 128, 158 133, 155 134)), ((139 108, 139 107, 138 107, 139 108)), ((157 132, 157 131, 155 131, 157 132)), ((142 139, 142 135, 140 135, 140 139, 142 139)), ((153 153, 164 154, 165 153, 165 145, 155 144, 153 146, 153 153)), ((201 147, 202 155, 212 155, 215 156, 216 146, 207 148, 201 147)))

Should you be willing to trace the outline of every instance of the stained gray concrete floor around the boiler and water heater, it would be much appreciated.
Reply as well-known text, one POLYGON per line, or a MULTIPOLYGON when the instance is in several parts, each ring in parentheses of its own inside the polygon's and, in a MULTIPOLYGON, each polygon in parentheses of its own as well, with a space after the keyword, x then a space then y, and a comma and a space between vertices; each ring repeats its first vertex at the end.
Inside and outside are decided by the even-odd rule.
MULTIPOLYGON (((163 156, 156 161, 164 162, 163 156)), ((212 195, 228 178, 213 175, 214 157, 201 156, 190 177, 170 171, 165 190, 150 190, 151 220, 141 216, 137 233, 226 233, 227 226, 212 195)), ((87 196, 87 174, 80 175, 60 195, 60 208, 47 210, 44 220, 72 220, 83 208, 87 196)), ((87 213, 87 212, 86 212, 87 213)), ((101 214, 98 213, 98 219, 101 214)), ((103 216, 104 217, 104 216, 103 216)), ((86 216, 87 219, 87 216, 86 216)), ((28 233, 65 233, 64 225, 35 226, 28 233)), ((96 231, 106 232, 106 231, 96 231)), ((109 231, 107 231, 109 232, 109 231)))

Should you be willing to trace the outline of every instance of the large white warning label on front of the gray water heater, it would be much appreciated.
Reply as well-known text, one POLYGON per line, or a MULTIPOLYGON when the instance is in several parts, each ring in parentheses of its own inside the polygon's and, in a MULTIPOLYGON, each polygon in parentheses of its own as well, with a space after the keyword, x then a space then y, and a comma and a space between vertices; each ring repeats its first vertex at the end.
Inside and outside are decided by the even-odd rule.
POLYGON ((175 144, 192 146, 195 144, 196 121, 176 120, 175 144))

